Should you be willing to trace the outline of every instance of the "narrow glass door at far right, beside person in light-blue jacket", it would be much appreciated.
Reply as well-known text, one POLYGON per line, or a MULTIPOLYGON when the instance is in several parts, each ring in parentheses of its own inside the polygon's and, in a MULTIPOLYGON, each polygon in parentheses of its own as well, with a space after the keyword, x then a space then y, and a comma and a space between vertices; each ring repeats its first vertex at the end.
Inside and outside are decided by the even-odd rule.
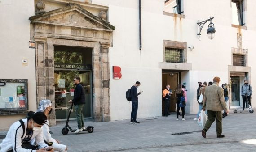
POLYGON ((231 96, 230 106, 240 106, 240 77, 234 76, 231 79, 231 96))

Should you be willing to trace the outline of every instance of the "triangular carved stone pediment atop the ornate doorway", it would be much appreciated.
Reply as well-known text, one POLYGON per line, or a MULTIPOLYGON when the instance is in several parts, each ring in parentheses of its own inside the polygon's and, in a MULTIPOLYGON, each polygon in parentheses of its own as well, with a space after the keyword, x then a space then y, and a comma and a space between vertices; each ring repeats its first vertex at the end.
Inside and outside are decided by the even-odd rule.
POLYGON ((65 8, 56 9, 29 18, 31 23, 72 26, 92 30, 105 30, 113 32, 115 27, 107 21, 94 16, 79 5, 70 5, 65 8))

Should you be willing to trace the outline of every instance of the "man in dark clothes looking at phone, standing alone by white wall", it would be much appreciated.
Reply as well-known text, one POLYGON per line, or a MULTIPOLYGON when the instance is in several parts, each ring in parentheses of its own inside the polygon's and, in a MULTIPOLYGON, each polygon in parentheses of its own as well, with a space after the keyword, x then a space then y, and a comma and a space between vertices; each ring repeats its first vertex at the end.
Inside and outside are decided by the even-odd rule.
POLYGON ((138 111, 138 95, 140 95, 142 93, 139 92, 137 93, 138 91, 138 87, 141 85, 141 83, 139 81, 137 81, 135 83, 135 85, 133 85, 130 89, 131 91, 131 97, 132 97, 132 113, 131 113, 131 122, 130 123, 140 123, 140 122, 137 122, 136 118, 137 118, 137 111, 138 111))

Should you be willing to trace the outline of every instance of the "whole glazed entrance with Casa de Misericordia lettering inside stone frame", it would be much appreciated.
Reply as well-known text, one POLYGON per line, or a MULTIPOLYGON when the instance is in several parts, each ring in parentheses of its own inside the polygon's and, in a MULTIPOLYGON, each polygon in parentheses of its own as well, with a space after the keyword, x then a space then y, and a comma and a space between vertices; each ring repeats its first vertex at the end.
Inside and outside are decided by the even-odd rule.
MULTIPOLYGON (((54 46, 54 92, 56 120, 66 120, 74 97, 73 79, 79 76, 85 93, 84 118, 93 118, 92 49, 54 46)), ((71 110, 75 119, 75 108, 71 110)))

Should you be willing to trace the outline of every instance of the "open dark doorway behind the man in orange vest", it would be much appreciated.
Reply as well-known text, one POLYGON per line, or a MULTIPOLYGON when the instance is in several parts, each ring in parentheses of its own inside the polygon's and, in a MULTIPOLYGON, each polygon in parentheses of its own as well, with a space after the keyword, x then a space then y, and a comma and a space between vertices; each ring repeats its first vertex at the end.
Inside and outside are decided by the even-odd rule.
MULTIPOLYGON (((162 71, 162 91, 166 88, 166 85, 170 85, 172 92, 177 88, 178 84, 181 82, 181 72, 175 71, 162 71)), ((169 112, 176 111, 177 99, 175 93, 172 93, 171 100, 169 102, 169 112)), ((162 114, 164 112, 165 103, 162 97, 162 114)))

